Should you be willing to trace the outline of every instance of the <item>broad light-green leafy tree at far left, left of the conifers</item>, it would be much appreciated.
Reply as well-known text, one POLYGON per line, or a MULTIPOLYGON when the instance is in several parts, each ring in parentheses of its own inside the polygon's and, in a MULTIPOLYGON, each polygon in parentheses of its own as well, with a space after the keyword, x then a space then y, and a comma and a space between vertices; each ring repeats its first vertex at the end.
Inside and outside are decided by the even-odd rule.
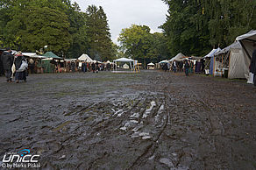
POLYGON ((23 51, 36 51, 48 45, 55 53, 70 46, 68 1, 13 0, 1 1, 0 18, 3 25, 1 40, 4 46, 23 51), (64 11, 64 12, 63 12, 64 11))

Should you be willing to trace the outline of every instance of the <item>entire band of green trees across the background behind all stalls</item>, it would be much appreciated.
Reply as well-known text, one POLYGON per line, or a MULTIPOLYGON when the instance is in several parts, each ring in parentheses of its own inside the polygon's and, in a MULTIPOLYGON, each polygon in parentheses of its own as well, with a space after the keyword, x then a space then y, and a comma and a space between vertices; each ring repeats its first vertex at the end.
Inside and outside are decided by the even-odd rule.
POLYGON ((255 0, 162 1, 168 5, 163 32, 131 25, 120 32, 117 46, 101 6, 83 12, 70 0, 0 0, 0 46, 24 52, 43 49, 65 58, 88 53, 95 60, 131 57, 148 63, 180 52, 203 56, 256 29, 255 0))

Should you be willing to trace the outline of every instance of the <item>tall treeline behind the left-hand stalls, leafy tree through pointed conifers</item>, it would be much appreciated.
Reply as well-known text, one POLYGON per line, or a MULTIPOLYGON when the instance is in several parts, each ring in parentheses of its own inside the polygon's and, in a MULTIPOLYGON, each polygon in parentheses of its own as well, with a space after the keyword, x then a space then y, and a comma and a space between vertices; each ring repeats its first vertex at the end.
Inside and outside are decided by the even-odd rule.
POLYGON ((47 46, 60 56, 110 60, 115 53, 102 7, 82 12, 70 0, 0 0, 0 46, 35 52, 47 46))

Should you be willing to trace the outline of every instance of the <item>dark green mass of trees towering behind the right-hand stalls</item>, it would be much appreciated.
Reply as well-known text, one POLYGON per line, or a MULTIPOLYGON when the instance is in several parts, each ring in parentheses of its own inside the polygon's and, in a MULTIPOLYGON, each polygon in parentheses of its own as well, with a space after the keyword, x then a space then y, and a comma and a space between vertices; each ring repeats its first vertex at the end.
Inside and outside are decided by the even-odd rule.
POLYGON ((163 0, 167 21, 161 28, 174 56, 203 55, 225 47, 245 32, 256 29, 255 0, 163 0))

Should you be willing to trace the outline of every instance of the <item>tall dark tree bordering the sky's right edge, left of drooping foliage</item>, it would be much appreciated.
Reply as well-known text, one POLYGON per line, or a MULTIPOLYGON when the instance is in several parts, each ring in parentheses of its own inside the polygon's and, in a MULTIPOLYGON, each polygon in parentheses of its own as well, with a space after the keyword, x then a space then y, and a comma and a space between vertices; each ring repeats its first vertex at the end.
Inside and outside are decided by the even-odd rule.
POLYGON ((199 0, 165 1, 167 22, 161 26, 167 35, 172 56, 177 53, 200 55, 210 50, 207 16, 199 0))

